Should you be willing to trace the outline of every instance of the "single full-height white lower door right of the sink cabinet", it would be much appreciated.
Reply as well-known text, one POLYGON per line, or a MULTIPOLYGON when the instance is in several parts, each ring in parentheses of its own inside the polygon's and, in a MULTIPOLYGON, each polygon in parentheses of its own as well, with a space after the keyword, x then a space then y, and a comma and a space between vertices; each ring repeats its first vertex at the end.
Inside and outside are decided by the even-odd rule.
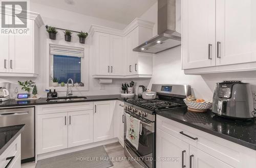
POLYGON ((94 102, 94 142, 113 138, 113 101, 94 102))

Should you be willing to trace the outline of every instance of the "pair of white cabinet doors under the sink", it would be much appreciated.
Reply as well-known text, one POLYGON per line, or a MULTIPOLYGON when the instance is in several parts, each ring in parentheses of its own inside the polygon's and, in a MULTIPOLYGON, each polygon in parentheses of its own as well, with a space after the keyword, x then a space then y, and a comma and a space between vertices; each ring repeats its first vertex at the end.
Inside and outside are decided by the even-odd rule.
POLYGON ((37 154, 93 142, 93 110, 37 115, 37 154))

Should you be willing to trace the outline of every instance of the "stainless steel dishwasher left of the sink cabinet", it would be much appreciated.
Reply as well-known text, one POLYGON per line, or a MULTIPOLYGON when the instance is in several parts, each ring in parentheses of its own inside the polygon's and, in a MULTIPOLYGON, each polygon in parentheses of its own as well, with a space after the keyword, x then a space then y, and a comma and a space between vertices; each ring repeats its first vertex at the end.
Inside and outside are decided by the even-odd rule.
POLYGON ((0 109, 0 127, 25 124, 22 132, 22 162, 35 159, 35 108, 0 109))

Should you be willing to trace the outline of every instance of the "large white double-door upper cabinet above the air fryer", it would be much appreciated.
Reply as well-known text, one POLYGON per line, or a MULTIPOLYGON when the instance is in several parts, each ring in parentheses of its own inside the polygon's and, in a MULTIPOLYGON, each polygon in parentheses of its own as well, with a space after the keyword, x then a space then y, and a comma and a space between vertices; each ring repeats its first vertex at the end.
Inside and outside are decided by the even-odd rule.
POLYGON ((255 7, 252 0, 182 1, 185 74, 255 70, 255 7))

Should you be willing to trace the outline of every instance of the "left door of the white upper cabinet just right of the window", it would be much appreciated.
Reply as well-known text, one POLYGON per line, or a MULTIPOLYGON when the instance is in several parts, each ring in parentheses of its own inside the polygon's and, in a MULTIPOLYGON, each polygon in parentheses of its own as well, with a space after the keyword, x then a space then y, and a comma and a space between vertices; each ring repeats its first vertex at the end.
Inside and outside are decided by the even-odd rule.
POLYGON ((110 74, 110 35, 95 33, 95 71, 96 75, 110 74))

